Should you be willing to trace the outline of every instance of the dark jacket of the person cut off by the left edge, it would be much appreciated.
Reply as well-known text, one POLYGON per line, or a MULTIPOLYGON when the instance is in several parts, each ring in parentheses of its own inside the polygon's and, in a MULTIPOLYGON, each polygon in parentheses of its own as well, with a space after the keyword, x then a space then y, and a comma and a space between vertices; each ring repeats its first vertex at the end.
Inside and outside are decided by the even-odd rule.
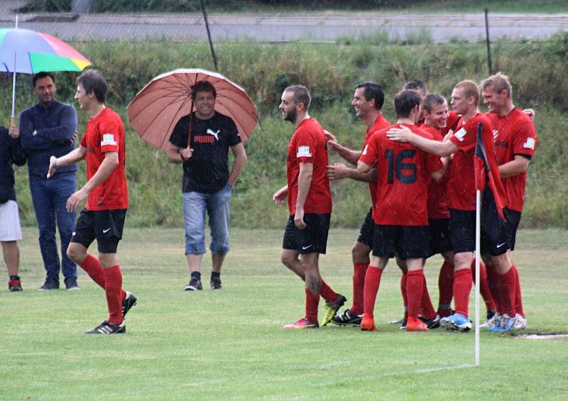
POLYGON ((16 200, 12 164, 26 164, 26 156, 20 146, 19 138, 10 138, 8 128, 0 126, 0 203, 16 200))

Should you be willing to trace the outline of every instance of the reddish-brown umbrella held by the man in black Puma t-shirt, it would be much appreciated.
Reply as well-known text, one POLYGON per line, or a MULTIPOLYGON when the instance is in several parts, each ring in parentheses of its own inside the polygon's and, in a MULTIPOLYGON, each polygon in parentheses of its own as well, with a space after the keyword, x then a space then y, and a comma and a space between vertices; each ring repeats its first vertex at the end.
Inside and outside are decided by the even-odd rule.
POLYGON ((129 123, 143 141, 158 149, 168 148, 175 124, 193 109, 190 88, 199 81, 215 87, 215 111, 233 119, 242 141, 250 138, 258 115, 244 89, 217 72, 183 68, 152 79, 128 106, 129 123))

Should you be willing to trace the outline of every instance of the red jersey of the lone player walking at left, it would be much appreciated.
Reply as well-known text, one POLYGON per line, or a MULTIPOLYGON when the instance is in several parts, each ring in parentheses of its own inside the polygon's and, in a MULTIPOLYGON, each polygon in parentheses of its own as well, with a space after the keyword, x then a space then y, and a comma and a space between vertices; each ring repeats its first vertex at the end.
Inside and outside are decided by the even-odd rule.
POLYGON ((87 210, 127 209, 129 193, 126 186, 124 126, 114 111, 103 109, 87 121, 81 146, 87 149, 87 180, 99 170, 104 153, 119 153, 119 165, 109 177, 93 189, 87 199, 87 210))

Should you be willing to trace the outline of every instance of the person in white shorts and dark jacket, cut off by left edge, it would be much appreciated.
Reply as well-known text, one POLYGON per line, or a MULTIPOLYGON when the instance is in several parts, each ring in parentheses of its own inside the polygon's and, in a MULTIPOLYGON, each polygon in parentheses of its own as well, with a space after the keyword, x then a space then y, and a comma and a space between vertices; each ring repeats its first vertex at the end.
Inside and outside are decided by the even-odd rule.
POLYGON ((26 157, 20 146, 18 135, 10 138, 8 129, 0 126, 0 243, 4 263, 8 268, 8 288, 10 291, 21 291, 22 285, 18 270, 20 268, 20 248, 18 241, 22 239, 16 191, 13 189, 12 164, 24 165, 26 157))

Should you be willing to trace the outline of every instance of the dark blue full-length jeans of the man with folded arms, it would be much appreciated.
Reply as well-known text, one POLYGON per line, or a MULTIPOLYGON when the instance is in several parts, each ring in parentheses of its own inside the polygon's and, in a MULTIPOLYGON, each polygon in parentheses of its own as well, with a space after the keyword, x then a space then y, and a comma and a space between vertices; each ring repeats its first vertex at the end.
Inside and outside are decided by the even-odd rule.
POLYGON ((56 174, 49 180, 37 175, 30 176, 30 192, 38 221, 40 251, 45 268, 46 282, 59 282, 59 271, 65 279, 77 280, 77 265, 67 258, 67 246, 75 230, 75 212, 65 209, 67 199, 75 192, 75 172, 56 174), (55 225, 59 228, 61 258, 55 239, 55 225))

